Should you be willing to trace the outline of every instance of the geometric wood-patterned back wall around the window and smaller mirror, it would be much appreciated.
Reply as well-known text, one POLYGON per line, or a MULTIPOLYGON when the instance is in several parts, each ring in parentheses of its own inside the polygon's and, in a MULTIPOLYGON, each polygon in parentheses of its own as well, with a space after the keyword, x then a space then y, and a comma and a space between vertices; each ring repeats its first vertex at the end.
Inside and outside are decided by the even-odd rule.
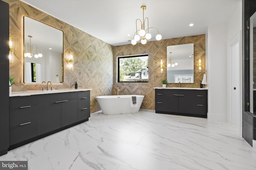
MULTIPOLYGON (((161 80, 167 77, 166 64, 163 73, 160 71, 160 60, 167 63, 167 46, 194 43, 194 83, 181 84, 183 87, 199 88, 205 73, 206 59, 206 41, 205 34, 193 35, 188 37, 179 37, 164 39, 160 41, 149 41, 145 45, 138 43, 136 45, 114 46, 114 84, 112 94, 116 94, 116 88, 120 89, 119 94, 140 94, 145 98, 142 103, 143 109, 155 109, 155 90, 154 87, 161 87, 161 80), (148 54, 148 82, 147 83, 122 83, 116 82, 116 61, 117 57, 126 55, 148 54), (198 58, 202 59, 202 72, 198 69, 198 58)), ((176 87, 175 83, 168 83, 166 87, 176 87)))

